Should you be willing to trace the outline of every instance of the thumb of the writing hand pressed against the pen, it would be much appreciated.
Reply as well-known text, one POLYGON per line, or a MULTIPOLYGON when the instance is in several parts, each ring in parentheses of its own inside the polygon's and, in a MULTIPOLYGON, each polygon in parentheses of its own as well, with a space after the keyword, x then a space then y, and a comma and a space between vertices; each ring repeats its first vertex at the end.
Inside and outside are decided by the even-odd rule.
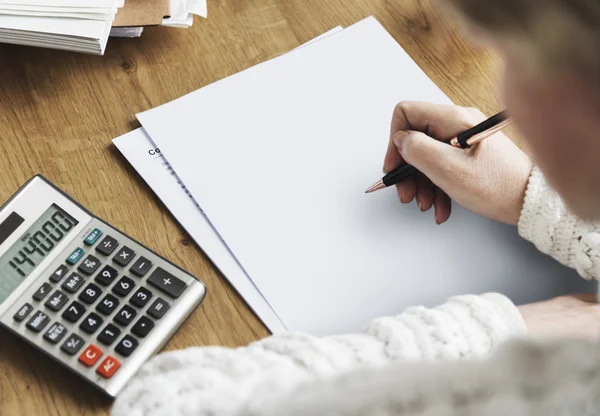
POLYGON ((438 186, 458 167, 464 152, 418 131, 399 131, 392 136, 402 158, 438 186))

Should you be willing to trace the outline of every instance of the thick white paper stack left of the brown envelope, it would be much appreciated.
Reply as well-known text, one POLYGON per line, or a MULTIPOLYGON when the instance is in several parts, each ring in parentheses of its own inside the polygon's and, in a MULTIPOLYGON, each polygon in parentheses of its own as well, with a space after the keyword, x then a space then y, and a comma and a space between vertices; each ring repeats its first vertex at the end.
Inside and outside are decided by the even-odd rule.
POLYGON ((0 42, 102 54, 123 0, 0 0, 0 42))

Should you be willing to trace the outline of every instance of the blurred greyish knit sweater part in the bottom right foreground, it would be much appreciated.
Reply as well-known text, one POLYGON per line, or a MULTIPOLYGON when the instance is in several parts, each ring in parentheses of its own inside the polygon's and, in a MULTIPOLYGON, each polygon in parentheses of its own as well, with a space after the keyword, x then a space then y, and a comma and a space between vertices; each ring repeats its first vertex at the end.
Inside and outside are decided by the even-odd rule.
POLYGON ((486 360, 402 363, 263 392, 260 416, 583 416, 600 414, 600 348, 516 340, 486 360))

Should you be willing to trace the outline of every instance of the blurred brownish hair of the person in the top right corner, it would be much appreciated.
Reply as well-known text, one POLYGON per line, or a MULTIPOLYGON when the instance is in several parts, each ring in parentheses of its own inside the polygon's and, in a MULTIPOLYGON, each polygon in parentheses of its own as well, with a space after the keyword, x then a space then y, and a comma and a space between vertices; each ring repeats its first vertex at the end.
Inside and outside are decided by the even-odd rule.
POLYGON ((510 36, 544 64, 600 72, 600 0, 448 0, 469 21, 510 36))

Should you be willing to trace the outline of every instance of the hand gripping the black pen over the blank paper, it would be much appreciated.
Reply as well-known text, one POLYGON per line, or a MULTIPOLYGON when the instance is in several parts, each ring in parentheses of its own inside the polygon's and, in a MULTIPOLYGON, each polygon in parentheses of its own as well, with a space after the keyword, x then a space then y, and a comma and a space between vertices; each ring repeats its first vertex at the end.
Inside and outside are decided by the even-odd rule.
POLYGON ((476 214, 516 225, 533 163, 504 134, 471 149, 448 140, 485 120, 478 110, 402 102, 394 110, 384 172, 405 161, 420 172, 397 185, 403 203, 416 198, 421 211, 435 207, 435 221, 450 217, 450 198, 476 214))

